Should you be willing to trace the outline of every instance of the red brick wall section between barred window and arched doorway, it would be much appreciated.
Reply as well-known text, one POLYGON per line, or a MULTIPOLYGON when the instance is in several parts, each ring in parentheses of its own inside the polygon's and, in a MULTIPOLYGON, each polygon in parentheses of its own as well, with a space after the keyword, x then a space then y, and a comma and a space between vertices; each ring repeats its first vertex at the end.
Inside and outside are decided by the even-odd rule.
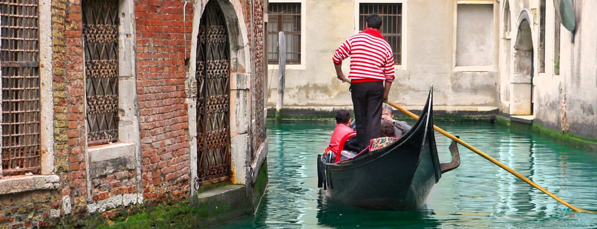
MULTIPOLYGON (((140 0, 135 5, 137 99, 144 199, 189 196, 189 136, 184 102, 184 45, 190 50, 192 4, 140 0)), ((187 52, 188 53, 188 52, 187 52)))

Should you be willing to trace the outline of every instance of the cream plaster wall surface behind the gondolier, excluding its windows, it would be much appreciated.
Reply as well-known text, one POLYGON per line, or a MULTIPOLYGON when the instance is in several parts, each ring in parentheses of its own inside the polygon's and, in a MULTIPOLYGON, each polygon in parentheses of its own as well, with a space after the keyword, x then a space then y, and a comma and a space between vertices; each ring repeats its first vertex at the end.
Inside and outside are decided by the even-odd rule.
MULTIPOLYGON (((301 2, 301 8, 305 8, 301 16, 303 23, 307 23, 302 31, 306 38, 301 44, 305 50, 301 55, 305 60, 301 65, 287 65, 284 106, 352 106, 349 84, 336 79, 331 57, 336 48, 358 30, 354 22, 358 4, 344 0, 296 2, 301 2)), ((403 26, 403 50, 406 51, 402 59, 407 61, 405 65, 396 66, 390 100, 405 105, 423 105, 433 84, 435 105, 497 106, 500 25, 497 2, 493 7, 491 65, 482 68, 456 67, 457 1, 406 0, 402 4, 406 19, 403 26)), ((344 60, 343 70, 346 74, 349 72, 349 59, 344 60)), ((273 106, 277 96, 278 65, 269 65, 267 73, 267 102, 273 106)))

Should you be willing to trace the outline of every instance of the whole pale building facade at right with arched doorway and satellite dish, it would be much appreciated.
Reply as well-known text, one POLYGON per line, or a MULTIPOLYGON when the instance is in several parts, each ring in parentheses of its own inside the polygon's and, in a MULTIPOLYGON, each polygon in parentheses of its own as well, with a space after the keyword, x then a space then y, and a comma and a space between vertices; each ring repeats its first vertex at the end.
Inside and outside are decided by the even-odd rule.
POLYGON ((559 2, 500 1, 500 112, 597 139, 597 2, 559 2))

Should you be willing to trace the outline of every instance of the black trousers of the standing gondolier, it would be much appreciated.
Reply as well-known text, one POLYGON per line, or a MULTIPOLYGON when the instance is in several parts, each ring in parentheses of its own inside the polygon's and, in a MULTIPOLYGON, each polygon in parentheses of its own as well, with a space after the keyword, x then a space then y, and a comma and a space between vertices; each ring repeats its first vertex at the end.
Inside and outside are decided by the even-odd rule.
POLYGON ((383 82, 351 84, 350 93, 355 108, 356 138, 363 150, 369 146, 371 139, 381 136, 383 82))

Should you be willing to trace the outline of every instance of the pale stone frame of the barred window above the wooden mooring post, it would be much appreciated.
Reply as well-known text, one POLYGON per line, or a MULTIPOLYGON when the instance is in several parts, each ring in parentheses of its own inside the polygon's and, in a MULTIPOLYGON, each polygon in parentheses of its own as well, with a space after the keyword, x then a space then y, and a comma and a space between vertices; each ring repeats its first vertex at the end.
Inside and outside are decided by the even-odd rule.
MULTIPOLYGON (((306 0, 269 0, 268 4, 272 4, 272 3, 298 3, 300 4, 300 63, 293 63, 293 64, 286 64, 286 69, 306 69, 306 61, 307 61, 307 48, 306 48, 306 40, 307 40, 307 20, 306 20, 306 0)), ((269 5, 267 6, 269 9, 269 5)), ((269 21, 271 21, 273 18, 272 14, 267 14, 268 17, 270 17, 268 19, 268 25, 269 25, 269 21)), ((267 29, 267 28, 265 28, 267 29)), ((269 41, 270 43, 273 41, 269 41)), ((276 41, 277 42, 277 41, 276 41)), ((269 47, 265 47, 265 55, 266 59, 269 58, 268 54, 269 53, 269 47)), ((267 64, 267 69, 268 70, 272 70, 272 69, 278 69, 279 65, 276 64, 267 64)))

